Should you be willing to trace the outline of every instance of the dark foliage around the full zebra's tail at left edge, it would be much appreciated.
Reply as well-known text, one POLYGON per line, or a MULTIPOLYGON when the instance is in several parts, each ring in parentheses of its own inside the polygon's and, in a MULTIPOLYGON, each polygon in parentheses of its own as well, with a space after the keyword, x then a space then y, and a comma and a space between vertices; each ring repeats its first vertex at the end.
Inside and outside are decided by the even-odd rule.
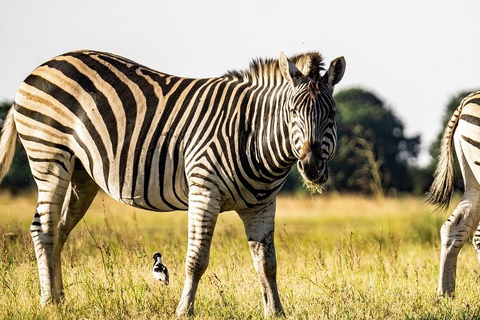
MULTIPOLYGON (((3 120, 7 116, 8 110, 10 110, 12 104, 13 102, 7 101, 0 103, 0 124, 3 124, 3 120)), ((18 194, 20 192, 31 190, 34 186, 35 183, 30 172, 25 149, 21 146, 17 138, 17 146, 12 166, 10 167, 7 176, 0 184, 0 188, 2 190, 8 190, 12 194, 18 194)))

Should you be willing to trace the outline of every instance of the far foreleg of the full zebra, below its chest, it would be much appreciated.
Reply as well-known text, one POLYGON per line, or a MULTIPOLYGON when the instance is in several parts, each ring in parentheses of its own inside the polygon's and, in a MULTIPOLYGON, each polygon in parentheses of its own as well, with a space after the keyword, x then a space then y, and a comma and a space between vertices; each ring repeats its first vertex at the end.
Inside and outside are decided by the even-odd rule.
POLYGON ((277 260, 274 245, 275 201, 255 213, 241 214, 253 263, 260 278, 264 314, 284 315, 277 289, 277 260))

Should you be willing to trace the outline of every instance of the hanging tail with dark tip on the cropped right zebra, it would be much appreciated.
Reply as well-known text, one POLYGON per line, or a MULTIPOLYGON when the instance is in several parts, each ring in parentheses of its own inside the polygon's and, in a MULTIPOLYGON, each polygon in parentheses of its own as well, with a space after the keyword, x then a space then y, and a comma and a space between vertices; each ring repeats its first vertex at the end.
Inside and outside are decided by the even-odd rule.
POLYGON ((446 210, 452 200, 455 181, 455 166, 452 152, 453 134, 457 128, 463 106, 463 103, 458 106, 445 127, 440 143, 440 155, 438 156, 437 167, 433 175, 433 183, 427 193, 426 202, 436 205, 437 209, 446 210))

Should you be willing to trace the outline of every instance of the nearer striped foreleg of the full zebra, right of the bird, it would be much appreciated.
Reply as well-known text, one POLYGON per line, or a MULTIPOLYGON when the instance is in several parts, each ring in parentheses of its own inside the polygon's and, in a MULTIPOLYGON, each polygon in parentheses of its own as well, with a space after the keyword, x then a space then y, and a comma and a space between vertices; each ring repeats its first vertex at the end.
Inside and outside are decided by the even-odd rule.
POLYGON ((220 205, 214 192, 191 188, 188 206, 188 248, 185 284, 177 306, 177 316, 193 315, 198 283, 207 269, 210 245, 220 205))

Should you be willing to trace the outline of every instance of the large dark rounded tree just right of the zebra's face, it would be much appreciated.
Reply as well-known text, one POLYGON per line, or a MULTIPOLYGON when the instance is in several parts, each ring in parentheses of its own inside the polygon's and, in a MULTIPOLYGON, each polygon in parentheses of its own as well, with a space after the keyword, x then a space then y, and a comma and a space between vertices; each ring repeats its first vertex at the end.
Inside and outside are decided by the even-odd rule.
POLYGON ((335 101, 339 141, 330 165, 335 189, 380 197, 411 191, 408 167, 418 155, 420 137, 405 137, 403 123, 372 92, 343 90, 335 101))

